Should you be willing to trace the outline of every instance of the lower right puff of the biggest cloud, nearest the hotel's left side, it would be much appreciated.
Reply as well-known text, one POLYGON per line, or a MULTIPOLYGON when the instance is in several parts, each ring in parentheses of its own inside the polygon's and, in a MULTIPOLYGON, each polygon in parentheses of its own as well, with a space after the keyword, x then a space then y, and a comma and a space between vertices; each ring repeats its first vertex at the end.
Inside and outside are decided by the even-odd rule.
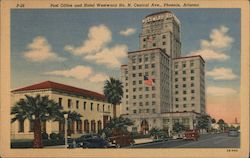
POLYGON ((88 54, 83 58, 109 68, 116 68, 121 65, 120 59, 127 56, 127 50, 126 45, 116 45, 112 48, 103 48, 100 52, 93 55, 88 54))

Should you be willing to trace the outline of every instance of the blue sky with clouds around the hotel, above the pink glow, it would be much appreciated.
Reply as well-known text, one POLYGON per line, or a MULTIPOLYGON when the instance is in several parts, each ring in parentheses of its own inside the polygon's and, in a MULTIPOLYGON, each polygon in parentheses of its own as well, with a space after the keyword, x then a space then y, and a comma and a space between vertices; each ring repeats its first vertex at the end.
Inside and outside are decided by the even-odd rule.
POLYGON ((101 92, 138 50, 141 20, 163 10, 181 22, 182 55, 205 58, 207 94, 237 96, 240 9, 13 9, 11 88, 52 80, 101 92))

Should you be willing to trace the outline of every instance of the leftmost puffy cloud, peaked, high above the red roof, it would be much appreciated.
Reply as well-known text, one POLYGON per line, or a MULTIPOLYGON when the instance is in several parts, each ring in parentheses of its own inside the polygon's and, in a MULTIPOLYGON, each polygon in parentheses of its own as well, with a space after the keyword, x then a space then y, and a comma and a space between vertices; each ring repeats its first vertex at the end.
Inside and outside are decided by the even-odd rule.
POLYGON ((59 57, 52 51, 51 45, 47 39, 42 36, 37 36, 28 44, 28 51, 23 52, 24 57, 32 62, 43 61, 65 61, 63 57, 59 57))

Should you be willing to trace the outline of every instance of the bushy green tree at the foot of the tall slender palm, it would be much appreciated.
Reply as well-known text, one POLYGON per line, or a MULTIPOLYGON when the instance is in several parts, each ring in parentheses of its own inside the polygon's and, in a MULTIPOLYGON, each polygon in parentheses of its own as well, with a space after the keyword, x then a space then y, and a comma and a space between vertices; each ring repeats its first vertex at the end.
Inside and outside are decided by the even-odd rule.
POLYGON ((115 117, 112 118, 102 130, 106 136, 117 135, 122 133, 128 133, 128 126, 132 126, 134 123, 129 118, 115 117))

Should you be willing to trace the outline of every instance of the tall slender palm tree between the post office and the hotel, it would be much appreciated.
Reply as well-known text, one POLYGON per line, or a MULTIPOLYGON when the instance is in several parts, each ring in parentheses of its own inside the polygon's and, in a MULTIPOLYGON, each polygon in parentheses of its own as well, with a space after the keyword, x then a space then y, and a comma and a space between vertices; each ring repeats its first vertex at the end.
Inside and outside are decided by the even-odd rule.
POLYGON ((104 83, 104 95, 108 102, 113 105, 114 118, 116 117, 116 105, 120 104, 123 96, 123 85, 118 79, 110 77, 104 83))

